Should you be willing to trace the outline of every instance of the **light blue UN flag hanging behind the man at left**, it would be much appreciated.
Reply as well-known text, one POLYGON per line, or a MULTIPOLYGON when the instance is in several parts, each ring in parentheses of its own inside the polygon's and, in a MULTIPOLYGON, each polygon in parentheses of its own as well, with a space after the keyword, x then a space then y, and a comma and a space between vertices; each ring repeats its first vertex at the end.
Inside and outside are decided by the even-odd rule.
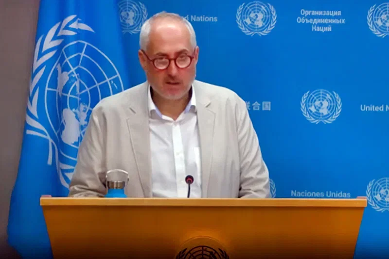
POLYGON ((23 258, 52 257, 39 198, 68 195, 92 108, 129 87, 120 26, 115 0, 40 2, 8 222, 9 243, 23 258))

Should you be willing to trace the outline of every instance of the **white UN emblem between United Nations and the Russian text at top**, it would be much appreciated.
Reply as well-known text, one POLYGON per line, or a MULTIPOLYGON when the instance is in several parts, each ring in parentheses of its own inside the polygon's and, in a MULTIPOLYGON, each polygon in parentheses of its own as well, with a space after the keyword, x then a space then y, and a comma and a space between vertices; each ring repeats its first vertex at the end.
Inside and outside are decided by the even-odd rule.
POLYGON ((239 29, 247 35, 266 35, 276 26, 276 9, 271 4, 252 1, 241 4, 236 13, 239 29))

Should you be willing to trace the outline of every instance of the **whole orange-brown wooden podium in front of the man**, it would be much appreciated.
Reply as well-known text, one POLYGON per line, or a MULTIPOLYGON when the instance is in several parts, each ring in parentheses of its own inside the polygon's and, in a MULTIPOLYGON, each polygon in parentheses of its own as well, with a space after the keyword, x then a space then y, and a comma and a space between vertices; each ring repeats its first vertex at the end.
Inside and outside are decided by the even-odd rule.
POLYGON ((40 204, 54 259, 352 259, 367 200, 41 197, 40 204))

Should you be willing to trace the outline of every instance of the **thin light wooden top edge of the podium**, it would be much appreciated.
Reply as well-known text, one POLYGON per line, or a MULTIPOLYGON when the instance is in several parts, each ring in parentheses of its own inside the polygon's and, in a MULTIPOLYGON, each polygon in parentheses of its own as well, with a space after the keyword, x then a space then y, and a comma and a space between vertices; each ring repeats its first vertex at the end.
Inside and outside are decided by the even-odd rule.
POLYGON ((367 199, 315 198, 101 198, 41 197, 41 206, 188 206, 188 207, 355 207, 367 206, 367 199))

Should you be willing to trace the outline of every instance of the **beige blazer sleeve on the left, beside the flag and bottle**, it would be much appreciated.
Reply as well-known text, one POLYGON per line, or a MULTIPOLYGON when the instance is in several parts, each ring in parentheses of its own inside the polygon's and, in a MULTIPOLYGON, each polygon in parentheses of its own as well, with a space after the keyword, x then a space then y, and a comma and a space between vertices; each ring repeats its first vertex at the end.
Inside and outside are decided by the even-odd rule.
POLYGON ((70 197, 102 197, 106 194, 103 166, 104 139, 102 117, 93 110, 78 149, 77 163, 69 186, 70 197))

